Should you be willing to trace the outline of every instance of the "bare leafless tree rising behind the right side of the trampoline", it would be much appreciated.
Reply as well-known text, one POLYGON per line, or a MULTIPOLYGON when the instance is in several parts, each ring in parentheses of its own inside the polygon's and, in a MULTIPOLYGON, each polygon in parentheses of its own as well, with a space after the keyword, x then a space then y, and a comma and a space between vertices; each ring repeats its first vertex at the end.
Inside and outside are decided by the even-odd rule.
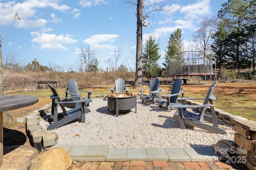
POLYGON ((218 18, 213 16, 212 18, 204 18, 198 30, 193 35, 196 50, 207 51, 210 50, 212 44, 211 36, 216 31, 218 18))

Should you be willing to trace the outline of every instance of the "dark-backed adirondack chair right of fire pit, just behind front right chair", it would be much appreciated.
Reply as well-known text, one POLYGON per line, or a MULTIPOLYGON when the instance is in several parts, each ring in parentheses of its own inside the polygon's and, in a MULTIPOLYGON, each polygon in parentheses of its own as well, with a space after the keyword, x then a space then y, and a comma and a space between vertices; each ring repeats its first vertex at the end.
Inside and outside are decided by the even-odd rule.
POLYGON ((158 94, 158 98, 156 99, 156 103, 159 104, 159 107, 167 107, 168 108, 168 111, 171 111, 171 107, 172 105, 174 104, 179 104, 177 102, 177 98, 178 96, 181 94, 182 95, 182 98, 183 98, 183 90, 181 88, 182 86, 182 79, 179 78, 177 80, 175 80, 172 84, 172 89, 171 90, 165 90, 165 91, 160 91, 160 92, 152 92, 152 94, 158 94), (166 100, 164 100, 162 98, 162 95, 161 93, 163 92, 171 92, 171 94, 167 94, 165 95, 166 97, 166 100))

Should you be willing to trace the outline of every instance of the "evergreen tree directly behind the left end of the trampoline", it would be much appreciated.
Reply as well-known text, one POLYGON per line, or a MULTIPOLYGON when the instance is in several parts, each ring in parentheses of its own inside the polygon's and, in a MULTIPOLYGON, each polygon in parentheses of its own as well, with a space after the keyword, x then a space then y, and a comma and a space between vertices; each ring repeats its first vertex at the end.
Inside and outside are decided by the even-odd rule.
MULTIPOLYGON (((169 37, 167 51, 164 57, 164 63, 162 63, 164 65, 164 68, 163 68, 164 72, 169 74, 168 57, 169 59, 173 59, 174 54, 181 53, 181 52, 183 52, 182 30, 177 28, 176 31, 173 31, 173 33, 169 37)), ((181 59, 181 57, 179 57, 178 59, 181 59)))

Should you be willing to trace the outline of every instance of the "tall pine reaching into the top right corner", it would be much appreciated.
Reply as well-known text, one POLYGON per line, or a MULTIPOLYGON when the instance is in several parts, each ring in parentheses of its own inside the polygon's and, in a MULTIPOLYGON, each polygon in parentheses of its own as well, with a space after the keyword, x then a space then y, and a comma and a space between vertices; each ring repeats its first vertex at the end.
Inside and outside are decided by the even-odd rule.
POLYGON ((246 61, 247 37, 246 25, 251 25, 256 21, 256 0, 228 0, 222 4, 218 11, 218 17, 224 21, 229 31, 228 55, 232 57, 234 68, 243 67, 246 61))

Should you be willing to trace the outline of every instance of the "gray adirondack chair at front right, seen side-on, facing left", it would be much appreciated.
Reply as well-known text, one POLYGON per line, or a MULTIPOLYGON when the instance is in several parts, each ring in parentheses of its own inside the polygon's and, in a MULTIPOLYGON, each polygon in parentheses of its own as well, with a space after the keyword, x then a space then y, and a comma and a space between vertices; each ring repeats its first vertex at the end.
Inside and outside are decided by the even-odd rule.
MULTIPOLYGON (((216 87, 218 81, 214 82, 208 90, 208 93, 206 95, 206 98, 178 98, 179 100, 182 100, 182 104, 173 105, 172 107, 177 108, 176 113, 174 114, 173 118, 174 120, 177 120, 180 122, 180 128, 185 129, 185 124, 192 125, 195 127, 199 127, 200 129, 204 129, 206 131, 210 131, 212 133, 219 133, 219 134, 226 134, 226 131, 224 129, 220 129, 218 127, 218 121, 216 118, 216 113, 213 106, 213 101, 216 100, 216 97, 213 96, 214 88, 216 87), (202 105, 186 105, 185 100, 195 100, 195 99, 201 99, 204 100, 204 104, 202 105), (206 111, 206 107, 210 107, 211 110, 211 118, 208 119, 204 117, 204 112, 206 111), (200 108, 199 113, 194 113, 186 110, 186 108, 200 108), (206 124, 204 121, 209 121, 212 123, 206 124)), ((220 120, 219 120, 220 121, 220 120)))

